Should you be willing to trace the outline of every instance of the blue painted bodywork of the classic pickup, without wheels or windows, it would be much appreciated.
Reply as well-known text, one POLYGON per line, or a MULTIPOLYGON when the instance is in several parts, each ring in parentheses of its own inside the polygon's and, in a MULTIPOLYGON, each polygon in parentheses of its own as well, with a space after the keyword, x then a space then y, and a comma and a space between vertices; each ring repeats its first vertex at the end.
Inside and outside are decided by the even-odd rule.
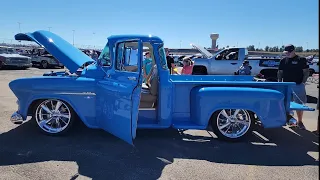
MULTIPOLYGON (((91 60, 62 38, 47 31, 18 34, 16 39, 34 40, 42 44, 57 59, 61 58, 71 72, 91 60)), ((33 101, 61 99, 75 110, 86 126, 104 129, 133 144, 137 128, 206 129, 212 114, 220 109, 253 111, 265 128, 284 125, 290 110, 314 110, 290 103, 291 86, 294 83, 254 82, 252 76, 170 75, 163 42, 156 36, 110 36, 105 46, 105 50, 108 49, 111 64, 102 66, 98 60, 78 76, 58 73, 57 76, 11 81, 9 87, 19 100, 18 113, 25 120, 30 115, 28 109, 33 101), (122 41, 136 41, 139 44, 136 72, 116 69, 116 47, 122 41), (158 67, 159 89, 155 110, 138 109, 142 83, 142 43, 151 44, 158 67)))

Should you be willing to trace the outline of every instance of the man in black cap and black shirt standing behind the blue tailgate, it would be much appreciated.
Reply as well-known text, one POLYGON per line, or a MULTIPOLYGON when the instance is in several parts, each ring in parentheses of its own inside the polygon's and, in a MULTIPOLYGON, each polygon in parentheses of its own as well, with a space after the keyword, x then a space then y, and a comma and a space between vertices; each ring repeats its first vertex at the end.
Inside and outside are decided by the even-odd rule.
MULTIPOLYGON (((292 87, 293 101, 299 104, 307 102, 305 83, 309 77, 309 65, 307 59, 300 57, 295 53, 295 47, 292 44, 285 46, 285 58, 281 59, 278 69, 278 81, 295 82, 292 87)), ((303 111, 297 111, 298 127, 305 129, 302 122, 303 111)))

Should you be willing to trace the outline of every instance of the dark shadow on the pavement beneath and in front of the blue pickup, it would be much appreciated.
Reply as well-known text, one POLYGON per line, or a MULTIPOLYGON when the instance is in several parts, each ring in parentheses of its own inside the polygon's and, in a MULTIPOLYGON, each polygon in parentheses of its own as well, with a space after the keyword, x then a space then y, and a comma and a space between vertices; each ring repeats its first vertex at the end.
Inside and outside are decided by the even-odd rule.
POLYGON ((285 128, 257 131, 269 139, 268 143, 276 145, 266 145, 265 140, 256 136, 246 142, 228 143, 177 130, 139 130, 132 147, 102 130, 88 129, 82 123, 66 137, 49 137, 26 122, 0 134, 0 166, 74 161, 79 174, 93 179, 157 179, 175 158, 257 166, 318 165, 307 154, 319 148, 312 143, 318 138, 311 132, 297 135, 285 128))

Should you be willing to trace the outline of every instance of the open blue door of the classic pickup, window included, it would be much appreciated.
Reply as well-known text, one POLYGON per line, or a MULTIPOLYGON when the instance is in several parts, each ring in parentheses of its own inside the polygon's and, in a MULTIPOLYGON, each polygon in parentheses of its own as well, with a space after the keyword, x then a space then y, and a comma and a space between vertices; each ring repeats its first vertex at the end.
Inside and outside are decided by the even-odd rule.
POLYGON ((133 144, 138 121, 142 84, 141 50, 140 40, 117 42, 113 62, 115 70, 98 82, 97 117, 101 128, 129 144, 133 144), (134 50, 134 53, 128 54, 128 49, 134 50))

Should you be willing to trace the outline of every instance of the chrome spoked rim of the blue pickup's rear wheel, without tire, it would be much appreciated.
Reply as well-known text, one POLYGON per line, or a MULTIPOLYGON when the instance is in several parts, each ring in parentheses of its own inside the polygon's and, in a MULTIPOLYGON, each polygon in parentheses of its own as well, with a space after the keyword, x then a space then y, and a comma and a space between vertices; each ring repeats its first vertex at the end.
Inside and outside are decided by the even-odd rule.
POLYGON ((223 109, 216 118, 219 132, 227 138, 240 138, 251 126, 251 117, 248 111, 243 109, 223 109))

